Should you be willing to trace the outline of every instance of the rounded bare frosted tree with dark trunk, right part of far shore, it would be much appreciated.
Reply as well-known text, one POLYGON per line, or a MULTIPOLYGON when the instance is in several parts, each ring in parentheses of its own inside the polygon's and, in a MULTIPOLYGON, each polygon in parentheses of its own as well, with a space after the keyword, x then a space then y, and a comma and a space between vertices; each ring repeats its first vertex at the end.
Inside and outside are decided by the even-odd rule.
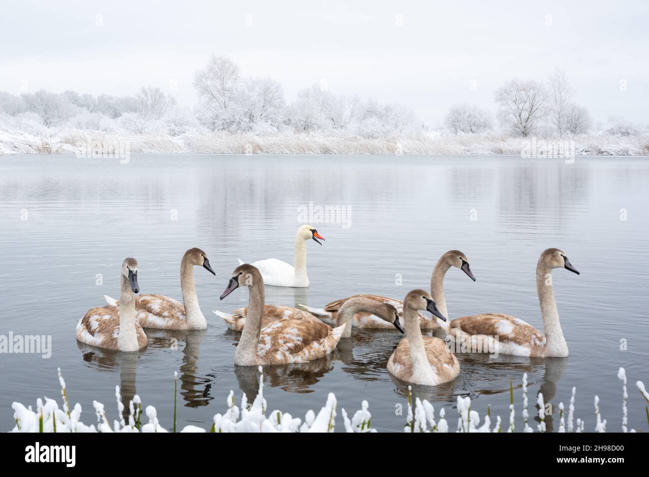
POLYGON ((546 118, 548 93, 535 80, 511 80, 496 90, 500 125, 526 137, 533 134, 546 118))

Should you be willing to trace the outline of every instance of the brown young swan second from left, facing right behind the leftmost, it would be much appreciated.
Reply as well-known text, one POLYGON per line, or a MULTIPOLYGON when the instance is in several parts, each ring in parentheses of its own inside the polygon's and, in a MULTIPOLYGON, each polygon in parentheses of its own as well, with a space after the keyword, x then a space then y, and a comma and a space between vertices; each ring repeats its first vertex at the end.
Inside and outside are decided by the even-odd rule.
MULTIPOLYGON (((138 321, 143 328, 160 330, 204 330, 207 320, 201 312, 199 299, 194 284, 194 265, 204 267, 216 275, 207 254, 201 249, 189 249, 180 260, 180 290, 182 304, 164 295, 140 295, 136 298, 135 308, 138 321)), ((109 305, 119 306, 116 300, 104 296, 109 305)))

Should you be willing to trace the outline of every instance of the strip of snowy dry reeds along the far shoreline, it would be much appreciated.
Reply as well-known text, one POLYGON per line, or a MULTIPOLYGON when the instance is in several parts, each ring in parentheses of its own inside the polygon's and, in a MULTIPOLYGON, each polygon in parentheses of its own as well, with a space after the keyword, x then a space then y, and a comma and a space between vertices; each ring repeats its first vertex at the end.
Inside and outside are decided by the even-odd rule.
POLYGON ((350 134, 232 132, 204 134, 119 134, 56 129, 40 135, 0 128, 0 154, 80 154, 94 149, 129 153, 190 154, 375 154, 514 155, 532 146, 533 157, 552 156, 544 149, 569 146, 575 156, 649 156, 649 136, 570 136, 514 138, 502 134, 464 136, 416 134, 361 138, 350 134))

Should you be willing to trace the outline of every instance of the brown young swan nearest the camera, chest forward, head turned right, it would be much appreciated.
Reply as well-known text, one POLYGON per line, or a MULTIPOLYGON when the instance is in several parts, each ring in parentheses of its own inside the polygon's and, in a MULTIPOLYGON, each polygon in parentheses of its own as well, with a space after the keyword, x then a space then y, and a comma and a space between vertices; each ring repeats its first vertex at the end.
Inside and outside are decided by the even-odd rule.
POLYGON ((435 386, 451 381, 459 374, 458 358, 439 338, 422 336, 418 310, 428 310, 445 321, 433 297, 424 290, 413 290, 404 299, 406 337, 387 361, 388 373, 402 381, 435 386))

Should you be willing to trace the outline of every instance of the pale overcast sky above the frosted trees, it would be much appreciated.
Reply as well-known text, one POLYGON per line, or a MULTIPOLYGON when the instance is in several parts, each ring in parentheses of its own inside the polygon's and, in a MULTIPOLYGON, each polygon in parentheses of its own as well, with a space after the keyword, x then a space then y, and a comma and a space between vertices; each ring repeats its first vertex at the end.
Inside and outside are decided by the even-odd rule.
POLYGON ((214 52, 243 75, 279 80, 288 101, 324 79, 435 126, 452 103, 495 110, 502 82, 559 67, 596 121, 646 125, 648 25, 647 0, 21 0, 0 13, 0 91, 155 85, 193 105, 193 73, 214 52))

